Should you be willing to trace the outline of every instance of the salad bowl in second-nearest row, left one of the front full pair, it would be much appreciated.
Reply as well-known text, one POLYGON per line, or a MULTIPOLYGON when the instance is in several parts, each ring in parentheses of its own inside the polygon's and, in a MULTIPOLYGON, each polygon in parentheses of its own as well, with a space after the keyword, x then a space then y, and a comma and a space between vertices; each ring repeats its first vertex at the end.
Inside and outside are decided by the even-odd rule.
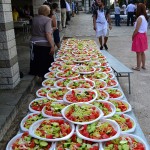
POLYGON ((49 118, 33 123, 29 128, 29 134, 40 140, 56 142, 69 139, 74 130, 75 126, 64 119, 49 118))

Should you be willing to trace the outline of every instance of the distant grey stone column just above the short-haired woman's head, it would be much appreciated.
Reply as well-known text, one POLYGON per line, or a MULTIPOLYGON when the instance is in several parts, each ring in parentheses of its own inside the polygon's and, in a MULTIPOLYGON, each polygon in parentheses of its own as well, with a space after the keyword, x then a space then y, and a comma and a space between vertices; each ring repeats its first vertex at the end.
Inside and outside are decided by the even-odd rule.
POLYGON ((38 9, 44 2, 45 2, 45 0, 32 0, 34 15, 38 14, 38 9))

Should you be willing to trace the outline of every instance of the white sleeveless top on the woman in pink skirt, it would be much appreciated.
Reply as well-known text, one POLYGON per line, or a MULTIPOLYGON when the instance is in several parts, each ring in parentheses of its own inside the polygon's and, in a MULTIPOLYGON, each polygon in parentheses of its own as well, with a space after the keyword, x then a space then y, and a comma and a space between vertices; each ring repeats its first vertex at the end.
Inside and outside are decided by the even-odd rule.
MULTIPOLYGON (((141 16, 139 16, 139 17, 142 18, 142 23, 141 23, 141 26, 140 26, 138 32, 140 32, 140 33, 145 33, 145 32, 147 32, 148 22, 147 22, 147 20, 145 19, 145 16, 144 16, 144 15, 141 15, 141 16)), ((138 18, 139 18, 139 17, 138 17, 138 18)), ((137 18, 137 20, 138 20, 138 18, 137 18)), ((135 22, 134 27, 136 27, 136 24, 137 24, 137 21, 135 22)))

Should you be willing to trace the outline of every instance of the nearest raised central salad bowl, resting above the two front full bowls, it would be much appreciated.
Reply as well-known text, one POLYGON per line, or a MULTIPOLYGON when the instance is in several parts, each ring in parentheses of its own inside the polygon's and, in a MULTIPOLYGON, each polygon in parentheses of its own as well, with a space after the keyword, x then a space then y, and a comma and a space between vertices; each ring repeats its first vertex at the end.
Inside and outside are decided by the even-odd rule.
POLYGON ((88 103, 74 103, 62 110, 62 116, 73 124, 90 124, 103 117, 103 112, 88 103))

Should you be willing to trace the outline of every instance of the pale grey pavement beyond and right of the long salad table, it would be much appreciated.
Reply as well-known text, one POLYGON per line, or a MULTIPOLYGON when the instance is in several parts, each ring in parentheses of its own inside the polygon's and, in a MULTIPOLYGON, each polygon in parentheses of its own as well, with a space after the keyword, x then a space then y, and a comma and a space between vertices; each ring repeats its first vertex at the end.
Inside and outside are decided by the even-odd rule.
MULTIPOLYGON (((136 55, 131 52, 131 36, 134 28, 113 26, 108 39, 109 52, 129 68, 136 65, 136 55)), ((65 30, 66 37, 95 38, 91 14, 80 13, 72 18, 65 30)), ((150 43, 150 29, 148 29, 150 43)), ((127 78, 120 79, 120 85, 132 105, 135 116, 150 143, 150 51, 146 52, 146 70, 134 71, 131 75, 131 94, 128 93, 127 78)))

